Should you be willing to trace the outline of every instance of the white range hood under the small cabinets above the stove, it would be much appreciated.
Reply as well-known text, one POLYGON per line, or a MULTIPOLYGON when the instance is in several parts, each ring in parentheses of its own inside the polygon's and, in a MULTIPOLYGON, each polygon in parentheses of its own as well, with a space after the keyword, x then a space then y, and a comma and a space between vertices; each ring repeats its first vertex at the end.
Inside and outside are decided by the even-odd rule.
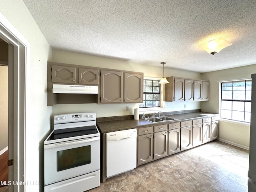
POLYGON ((52 93, 98 94, 98 86, 53 84, 52 93))

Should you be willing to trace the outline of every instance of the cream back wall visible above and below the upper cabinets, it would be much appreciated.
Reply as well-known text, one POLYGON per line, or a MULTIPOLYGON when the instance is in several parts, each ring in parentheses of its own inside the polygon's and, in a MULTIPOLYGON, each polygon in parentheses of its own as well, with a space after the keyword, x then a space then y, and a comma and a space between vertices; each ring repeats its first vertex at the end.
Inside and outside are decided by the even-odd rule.
MULTIPOLYGON (((144 72, 144 77, 162 78, 163 75, 163 68, 160 63, 159 66, 146 66, 124 60, 88 56, 84 54, 76 54, 59 50, 52 50, 52 61, 84 66, 96 66, 109 69, 144 72)), ((171 68, 164 68, 164 75, 166 77, 178 76, 195 79, 200 79, 201 77, 201 74, 197 72, 189 72, 171 68)), ((164 102, 163 105, 167 106, 167 109, 161 110, 162 112, 200 109, 200 102, 164 102), (184 104, 186 104, 186 108, 184 108, 184 104)), ((122 116, 134 114, 134 108, 138 107, 139 104, 59 104, 52 107, 52 114, 96 112, 97 117, 122 116), (129 111, 126 111, 127 105, 130 108, 129 111)), ((158 111, 159 110, 156 110, 156 112, 158 111)), ((149 112, 152 113, 152 111, 149 112)), ((143 112, 140 112, 140 114, 142 113, 143 112)))

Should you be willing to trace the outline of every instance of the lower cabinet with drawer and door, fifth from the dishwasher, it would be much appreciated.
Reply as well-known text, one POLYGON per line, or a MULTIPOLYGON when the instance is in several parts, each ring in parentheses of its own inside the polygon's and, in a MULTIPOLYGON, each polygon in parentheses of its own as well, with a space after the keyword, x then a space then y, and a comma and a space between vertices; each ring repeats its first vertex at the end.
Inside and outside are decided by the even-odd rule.
POLYGON ((202 119, 192 120, 192 147, 202 144, 202 119))

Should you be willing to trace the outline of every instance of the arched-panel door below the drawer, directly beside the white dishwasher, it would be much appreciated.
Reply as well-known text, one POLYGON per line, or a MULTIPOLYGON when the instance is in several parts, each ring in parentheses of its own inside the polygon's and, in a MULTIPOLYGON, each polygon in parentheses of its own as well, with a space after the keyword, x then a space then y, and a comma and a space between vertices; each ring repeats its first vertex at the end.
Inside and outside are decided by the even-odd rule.
POLYGON ((153 160, 153 135, 138 136, 138 165, 153 160))

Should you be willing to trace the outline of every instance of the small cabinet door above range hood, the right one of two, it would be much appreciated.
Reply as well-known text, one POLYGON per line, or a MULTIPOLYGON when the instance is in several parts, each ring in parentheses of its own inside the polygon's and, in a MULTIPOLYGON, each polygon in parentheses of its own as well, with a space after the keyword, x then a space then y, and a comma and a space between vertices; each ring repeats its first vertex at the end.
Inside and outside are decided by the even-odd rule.
POLYGON ((99 84, 99 70, 97 69, 84 69, 79 68, 79 84, 90 84, 98 85, 99 84))

